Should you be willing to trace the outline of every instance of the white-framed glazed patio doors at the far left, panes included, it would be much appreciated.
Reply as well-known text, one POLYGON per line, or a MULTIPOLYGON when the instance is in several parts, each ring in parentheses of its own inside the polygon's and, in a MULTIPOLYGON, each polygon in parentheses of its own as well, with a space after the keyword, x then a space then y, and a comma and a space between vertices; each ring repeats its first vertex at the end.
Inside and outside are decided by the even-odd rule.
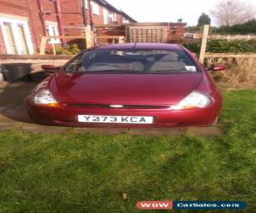
POLYGON ((3 41, 7 54, 33 54, 32 38, 27 20, 16 20, 9 17, 0 17, 0 26, 3 31, 3 41))

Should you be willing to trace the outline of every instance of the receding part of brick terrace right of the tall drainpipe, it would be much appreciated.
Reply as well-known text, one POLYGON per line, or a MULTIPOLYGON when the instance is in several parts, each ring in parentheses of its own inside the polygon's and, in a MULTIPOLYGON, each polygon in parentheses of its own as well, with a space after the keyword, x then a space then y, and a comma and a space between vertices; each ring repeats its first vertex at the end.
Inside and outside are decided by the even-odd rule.
POLYGON ((84 26, 137 22, 105 0, 81 0, 76 1, 76 4, 67 0, 59 1, 63 34, 67 36, 80 34, 84 26))

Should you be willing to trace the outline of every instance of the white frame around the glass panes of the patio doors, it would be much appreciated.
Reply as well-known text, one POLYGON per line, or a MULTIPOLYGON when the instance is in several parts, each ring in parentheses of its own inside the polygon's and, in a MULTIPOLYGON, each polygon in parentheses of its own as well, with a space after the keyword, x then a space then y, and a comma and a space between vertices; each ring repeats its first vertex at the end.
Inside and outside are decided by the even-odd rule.
POLYGON ((22 55, 23 54, 23 49, 22 49, 22 45, 21 45, 21 37, 20 34, 18 32, 18 25, 22 26, 24 29, 24 33, 25 33, 25 39, 26 39, 26 45, 27 45, 27 50, 28 50, 28 54, 32 55, 34 53, 34 49, 33 49, 33 45, 32 45, 32 38, 31 38, 31 34, 30 34, 30 30, 28 27, 28 23, 27 20, 16 20, 16 19, 11 19, 11 18, 6 18, 6 17, 2 17, 0 16, 0 26, 2 28, 2 32, 3 32, 3 41, 7 50, 7 53, 10 53, 10 48, 9 48, 9 43, 8 43, 8 35, 6 34, 6 32, 4 31, 4 27, 3 27, 3 23, 9 23, 11 25, 11 30, 14 34, 14 41, 15 41, 15 49, 18 55, 22 55))

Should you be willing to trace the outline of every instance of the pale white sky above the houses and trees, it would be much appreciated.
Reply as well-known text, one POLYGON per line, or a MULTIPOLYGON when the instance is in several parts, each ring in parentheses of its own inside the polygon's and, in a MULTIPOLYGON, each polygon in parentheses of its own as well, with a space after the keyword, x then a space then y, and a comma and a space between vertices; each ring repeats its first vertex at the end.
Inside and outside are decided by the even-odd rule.
MULTIPOLYGON (((183 19, 195 26, 201 13, 209 11, 219 0, 107 0, 115 8, 139 22, 176 22, 183 19)), ((256 0, 243 0, 256 9, 256 0)), ((214 25, 214 21, 212 22, 214 25)))

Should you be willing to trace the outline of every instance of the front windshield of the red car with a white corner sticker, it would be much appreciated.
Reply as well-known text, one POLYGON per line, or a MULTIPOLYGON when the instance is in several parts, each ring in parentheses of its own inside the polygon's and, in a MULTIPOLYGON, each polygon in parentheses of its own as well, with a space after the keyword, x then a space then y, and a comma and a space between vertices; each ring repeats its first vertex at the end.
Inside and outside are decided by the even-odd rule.
POLYGON ((65 67, 66 72, 198 72, 183 50, 95 49, 85 52, 65 67))

